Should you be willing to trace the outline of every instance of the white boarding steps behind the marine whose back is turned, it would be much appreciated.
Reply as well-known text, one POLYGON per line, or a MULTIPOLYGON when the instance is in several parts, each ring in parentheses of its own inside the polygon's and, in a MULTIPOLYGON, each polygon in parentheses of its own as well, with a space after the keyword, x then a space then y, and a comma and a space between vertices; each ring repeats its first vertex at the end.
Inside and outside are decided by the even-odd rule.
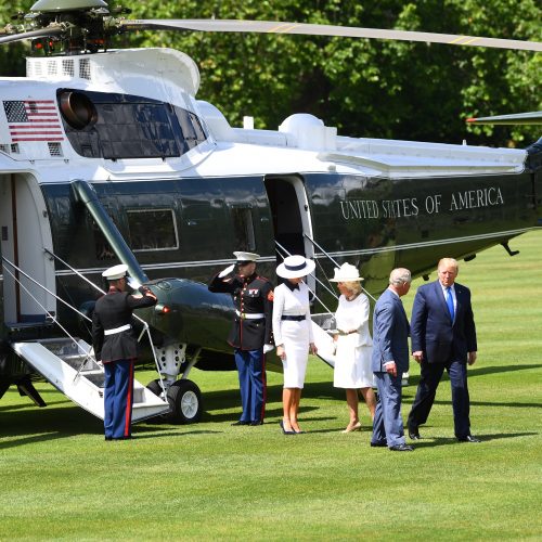
MULTIPOLYGON (((103 420, 104 370, 96 363, 90 345, 82 339, 49 338, 12 343, 12 348, 56 389, 72 401, 103 420)), ((133 380, 132 421, 164 414, 169 404, 133 380)))

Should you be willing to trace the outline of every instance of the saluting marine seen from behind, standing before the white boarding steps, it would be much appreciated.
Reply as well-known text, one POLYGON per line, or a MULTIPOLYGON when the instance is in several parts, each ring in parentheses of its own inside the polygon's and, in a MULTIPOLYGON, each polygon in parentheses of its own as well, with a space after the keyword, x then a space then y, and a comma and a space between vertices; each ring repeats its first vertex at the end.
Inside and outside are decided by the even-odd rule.
POLYGON ((95 305, 92 315, 92 345, 96 360, 105 372, 104 429, 105 440, 131 437, 133 404, 133 362, 138 340, 131 326, 133 309, 156 305, 156 296, 145 286, 133 296, 126 292, 128 266, 120 264, 102 273, 108 283, 107 294, 95 305))

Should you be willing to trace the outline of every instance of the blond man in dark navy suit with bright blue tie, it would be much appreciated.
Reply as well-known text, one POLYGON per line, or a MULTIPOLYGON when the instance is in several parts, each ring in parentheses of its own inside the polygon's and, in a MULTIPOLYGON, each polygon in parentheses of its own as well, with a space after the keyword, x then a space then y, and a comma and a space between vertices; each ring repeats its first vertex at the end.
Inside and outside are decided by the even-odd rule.
POLYGON ((412 356, 421 364, 416 398, 409 414, 409 436, 420 439, 444 369, 452 385, 455 437, 479 442, 470 435, 467 363, 476 361, 476 327, 470 291, 455 282, 459 267, 453 258, 438 264, 438 281, 420 286, 411 320, 412 356))

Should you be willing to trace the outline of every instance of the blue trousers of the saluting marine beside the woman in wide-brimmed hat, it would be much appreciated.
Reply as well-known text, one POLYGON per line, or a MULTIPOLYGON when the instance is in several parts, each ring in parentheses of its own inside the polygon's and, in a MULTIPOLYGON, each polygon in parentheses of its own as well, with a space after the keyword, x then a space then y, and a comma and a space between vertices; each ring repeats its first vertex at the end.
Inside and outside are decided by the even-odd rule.
POLYGON ((263 349, 235 349, 238 372, 241 422, 262 422, 266 414, 266 361, 263 349))

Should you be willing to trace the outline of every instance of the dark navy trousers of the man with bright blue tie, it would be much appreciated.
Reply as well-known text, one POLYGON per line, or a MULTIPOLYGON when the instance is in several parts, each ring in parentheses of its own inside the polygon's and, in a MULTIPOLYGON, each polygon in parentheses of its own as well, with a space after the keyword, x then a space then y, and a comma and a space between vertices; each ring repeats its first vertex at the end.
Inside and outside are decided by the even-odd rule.
POLYGON ((422 362, 422 373, 417 385, 416 398, 409 414, 408 426, 416 429, 427 422, 429 412, 437 395, 440 378, 448 371, 452 386, 452 406, 454 431, 457 438, 470 435, 469 409, 470 400, 467 386, 467 366, 459 361, 448 363, 422 362))

